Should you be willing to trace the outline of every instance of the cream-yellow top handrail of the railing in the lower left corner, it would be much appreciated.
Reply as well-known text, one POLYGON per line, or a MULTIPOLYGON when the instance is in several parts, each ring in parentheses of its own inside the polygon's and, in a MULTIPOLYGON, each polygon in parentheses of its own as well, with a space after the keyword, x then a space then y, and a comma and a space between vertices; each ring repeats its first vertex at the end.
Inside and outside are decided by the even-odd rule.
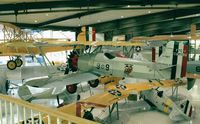
MULTIPOLYGON (((34 110, 34 111, 37 111, 37 112, 41 112, 41 113, 47 114, 48 116, 57 117, 57 118, 59 118, 61 120, 66 120, 69 123, 97 124, 97 122, 93 122, 93 121, 89 121, 89 120, 86 120, 86 119, 83 119, 83 118, 79 118, 79 117, 76 117, 76 116, 73 116, 73 115, 69 115, 67 113, 60 112, 58 110, 51 109, 51 108, 48 108, 48 107, 44 107, 44 106, 41 106, 41 105, 38 105, 38 104, 32 104, 32 103, 23 101, 21 99, 13 98, 13 97, 8 96, 8 95, 0 94, 0 100, 1 101, 8 101, 10 103, 13 103, 13 104, 28 108, 30 110, 34 110)), ((2 107, 2 106, 0 106, 0 107, 2 107)), ((59 123, 62 123, 62 122, 59 122, 59 123)))

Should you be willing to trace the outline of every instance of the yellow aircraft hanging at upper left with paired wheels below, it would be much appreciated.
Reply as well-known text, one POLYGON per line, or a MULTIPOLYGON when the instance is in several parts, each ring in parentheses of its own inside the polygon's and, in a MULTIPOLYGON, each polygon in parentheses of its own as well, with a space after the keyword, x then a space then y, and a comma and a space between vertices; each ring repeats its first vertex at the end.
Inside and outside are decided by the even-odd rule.
MULTIPOLYGON (((5 23, 13 28, 13 25, 5 23)), ((10 70, 14 70, 16 67, 20 67, 23 61, 19 59, 19 56, 24 54, 36 55, 41 54, 45 56, 47 52, 67 51, 73 49, 79 49, 80 47, 89 46, 141 46, 142 43, 126 43, 126 42, 104 42, 104 41, 87 41, 85 28, 82 28, 82 32, 78 36, 78 41, 71 42, 60 39, 25 39, 23 31, 19 28, 13 29, 17 33, 5 33, 13 34, 10 39, 4 39, 4 42, 0 43, 0 56, 17 56, 15 60, 10 60, 7 63, 7 67, 10 70), (17 36, 15 36, 17 35, 17 36)), ((11 31, 10 31, 11 32, 11 31)), ((5 35, 5 37, 8 37, 5 35)), ((46 57, 46 56, 45 56, 46 57)), ((47 58, 47 57, 46 57, 47 58)))

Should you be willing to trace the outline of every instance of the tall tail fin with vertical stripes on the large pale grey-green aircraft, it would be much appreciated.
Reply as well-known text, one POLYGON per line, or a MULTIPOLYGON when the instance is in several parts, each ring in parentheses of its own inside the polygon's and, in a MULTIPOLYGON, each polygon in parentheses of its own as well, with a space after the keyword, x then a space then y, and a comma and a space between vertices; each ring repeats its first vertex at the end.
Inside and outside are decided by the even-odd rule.
POLYGON ((157 62, 171 65, 171 79, 186 76, 188 45, 183 42, 170 41, 158 57, 157 62))

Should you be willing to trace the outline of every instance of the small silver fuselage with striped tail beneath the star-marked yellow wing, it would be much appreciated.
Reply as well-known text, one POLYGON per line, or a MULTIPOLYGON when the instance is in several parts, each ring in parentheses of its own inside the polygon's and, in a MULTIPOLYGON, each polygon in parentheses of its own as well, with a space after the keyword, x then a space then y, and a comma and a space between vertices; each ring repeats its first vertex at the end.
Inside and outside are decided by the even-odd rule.
POLYGON ((189 100, 182 100, 176 104, 163 91, 155 89, 142 91, 141 97, 151 107, 169 114, 169 118, 173 121, 190 120, 193 116, 194 108, 189 100))

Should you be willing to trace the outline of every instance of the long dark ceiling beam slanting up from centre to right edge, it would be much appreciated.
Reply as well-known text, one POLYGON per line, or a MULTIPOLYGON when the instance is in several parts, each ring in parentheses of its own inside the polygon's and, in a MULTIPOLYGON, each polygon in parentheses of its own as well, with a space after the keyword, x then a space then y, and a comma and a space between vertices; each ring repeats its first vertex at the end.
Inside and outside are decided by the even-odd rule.
POLYGON ((129 17, 126 19, 118 19, 89 26, 95 27, 97 32, 108 32, 115 29, 123 29, 127 27, 134 27, 144 24, 159 23, 164 20, 174 20, 178 17, 193 15, 200 13, 200 6, 190 7, 187 9, 169 10, 159 13, 152 13, 148 15, 129 17), (194 9, 195 8, 195 9, 194 9))

